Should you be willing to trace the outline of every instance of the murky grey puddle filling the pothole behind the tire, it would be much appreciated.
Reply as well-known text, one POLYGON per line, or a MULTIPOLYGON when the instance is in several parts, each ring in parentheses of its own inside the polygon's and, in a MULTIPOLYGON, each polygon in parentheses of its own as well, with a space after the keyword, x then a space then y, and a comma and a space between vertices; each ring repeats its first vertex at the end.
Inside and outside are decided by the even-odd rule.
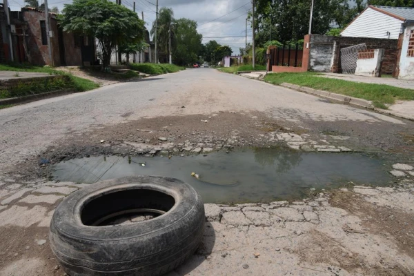
POLYGON ((242 203, 299 198, 309 188, 337 188, 351 182, 384 186, 391 181, 384 163, 359 153, 246 148, 206 157, 72 159, 56 164, 52 174, 59 181, 90 184, 133 175, 175 177, 193 186, 205 203, 242 203))

